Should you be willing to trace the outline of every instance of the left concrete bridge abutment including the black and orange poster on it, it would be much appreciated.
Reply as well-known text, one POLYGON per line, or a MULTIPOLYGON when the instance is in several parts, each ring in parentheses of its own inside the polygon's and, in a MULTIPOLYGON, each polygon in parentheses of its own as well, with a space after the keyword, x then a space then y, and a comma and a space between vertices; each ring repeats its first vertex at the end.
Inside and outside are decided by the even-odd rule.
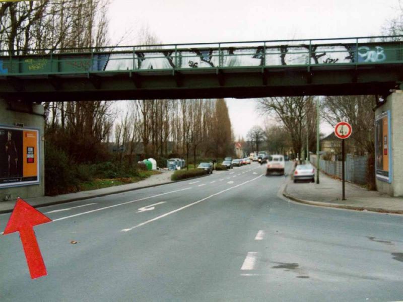
POLYGON ((44 126, 42 105, 0 99, 0 202, 44 195, 44 126))

